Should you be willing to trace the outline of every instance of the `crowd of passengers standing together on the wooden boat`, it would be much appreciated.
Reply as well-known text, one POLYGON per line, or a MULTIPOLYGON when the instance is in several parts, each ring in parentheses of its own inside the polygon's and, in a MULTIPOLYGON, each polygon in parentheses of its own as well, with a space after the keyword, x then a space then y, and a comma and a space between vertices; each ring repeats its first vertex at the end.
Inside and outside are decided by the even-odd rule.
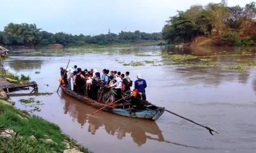
MULTIPOLYGON (((110 71, 108 69, 102 70, 102 75, 97 69, 91 69, 88 71, 81 68, 77 68, 75 65, 74 68, 68 68, 67 70, 60 67, 60 75, 63 78, 63 84, 72 90, 71 83, 73 80, 73 91, 84 95, 87 91, 87 94, 90 98, 97 100, 98 91, 101 85, 104 85, 105 88, 112 88, 117 91, 117 99, 122 98, 122 92, 131 92, 131 87, 133 81, 130 78, 130 72, 127 71, 125 74, 121 72, 110 71)), ((137 75, 137 79, 134 82, 134 89, 137 89, 139 93, 142 94, 142 99, 146 100, 145 88, 147 87, 146 81, 141 79, 141 74, 137 75)))

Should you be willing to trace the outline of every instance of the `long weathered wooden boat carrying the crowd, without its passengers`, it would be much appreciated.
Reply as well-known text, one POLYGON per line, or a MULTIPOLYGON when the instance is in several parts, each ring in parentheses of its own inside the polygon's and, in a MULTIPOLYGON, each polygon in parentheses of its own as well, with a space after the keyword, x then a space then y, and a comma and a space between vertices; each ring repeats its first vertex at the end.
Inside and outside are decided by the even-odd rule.
MULTIPOLYGON (((84 104, 87 104, 99 109, 106 106, 106 104, 99 103, 98 101, 95 101, 89 98, 88 96, 80 95, 74 92, 73 90, 69 90, 68 88, 65 88, 63 86, 60 86, 60 88, 64 93, 80 100, 84 104)), ((148 101, 143 101, 143 105, 144 105, 143 108, 138 109, 137 107, 133 107, 130 103, 119 104, 119 105, 113 104, 110 107, 107 107, 103 110, 116 115, 127 116, 132 118, 149 119, 149 120, 157 120, 164 113, 164 110, 163 110, 164 108, 162 109, 161 107, 156 107, 151 103, 149 103, 148 101)))

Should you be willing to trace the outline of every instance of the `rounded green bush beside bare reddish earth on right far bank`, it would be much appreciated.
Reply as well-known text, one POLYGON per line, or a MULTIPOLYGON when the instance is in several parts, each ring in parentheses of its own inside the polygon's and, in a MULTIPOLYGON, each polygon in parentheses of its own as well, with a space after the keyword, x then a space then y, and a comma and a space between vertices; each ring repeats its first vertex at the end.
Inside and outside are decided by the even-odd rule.
POLYGON ((238 32, 227 32, 223 37, 221 37, 221 44, 234 45, 237 41, 240 40, 238 32))

